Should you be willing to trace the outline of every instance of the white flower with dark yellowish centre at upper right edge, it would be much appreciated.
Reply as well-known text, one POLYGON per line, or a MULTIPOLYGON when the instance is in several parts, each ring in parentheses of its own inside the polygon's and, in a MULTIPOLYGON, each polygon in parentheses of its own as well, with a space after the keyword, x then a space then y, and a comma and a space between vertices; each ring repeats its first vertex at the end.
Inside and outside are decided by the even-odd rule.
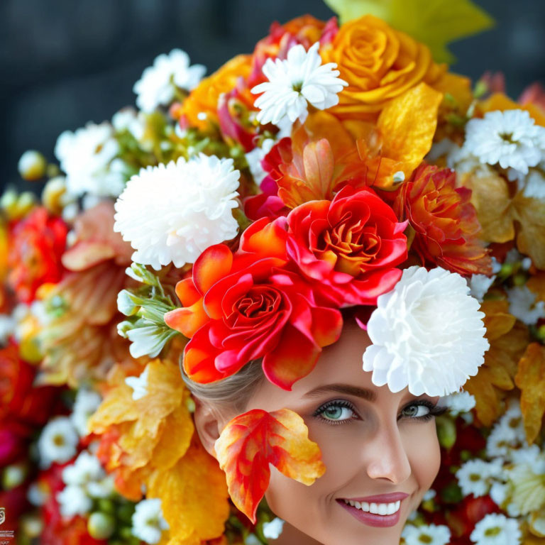
POLYGON ((500 163, 527 174, 544 157, 545 128, 524 110, 489 111, 483 119, 468 121, 463 149, 481 163, 500 163))

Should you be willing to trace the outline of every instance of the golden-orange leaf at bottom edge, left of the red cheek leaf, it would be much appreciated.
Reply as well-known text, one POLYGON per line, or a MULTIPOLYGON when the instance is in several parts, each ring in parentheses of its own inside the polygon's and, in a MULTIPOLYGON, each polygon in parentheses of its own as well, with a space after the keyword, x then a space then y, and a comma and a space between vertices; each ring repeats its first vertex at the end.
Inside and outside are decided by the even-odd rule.
MULTIPOLYGON (((170 438, 175 439, 172 431, 170 438)), ((170 527, 169 544, 184 543, 194 536, 214 539, 224 533, 229 517, 225 475, 198 441, 193 441, 175 466, 155 470, 147 484, 146 496, 161 500, 170 527)))

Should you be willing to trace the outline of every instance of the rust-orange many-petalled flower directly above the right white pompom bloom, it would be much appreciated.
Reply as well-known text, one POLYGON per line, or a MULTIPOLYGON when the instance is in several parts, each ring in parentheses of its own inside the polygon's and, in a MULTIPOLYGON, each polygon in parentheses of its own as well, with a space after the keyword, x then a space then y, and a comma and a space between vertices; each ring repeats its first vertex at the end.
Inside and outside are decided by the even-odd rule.
POLYGON ((422 263, 434 263, 461 275, 492 274, 470 198, 469 189, 456 187, 453 170, 425 163, 401 187, 395 209, 414 229, 411 248, 422 263))

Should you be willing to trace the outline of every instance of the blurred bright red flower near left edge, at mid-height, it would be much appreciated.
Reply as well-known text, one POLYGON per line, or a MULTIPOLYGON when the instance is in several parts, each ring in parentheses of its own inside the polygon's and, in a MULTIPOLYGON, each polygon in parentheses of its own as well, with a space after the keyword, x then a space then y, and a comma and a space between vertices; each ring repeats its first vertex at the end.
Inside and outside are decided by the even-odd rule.
POLYGON ((45 208, 35 209, 13 226, 8 281, 20 301, 31 302, 40 285, 60 280, 67 232, 65 222, 49 216, 45 208))

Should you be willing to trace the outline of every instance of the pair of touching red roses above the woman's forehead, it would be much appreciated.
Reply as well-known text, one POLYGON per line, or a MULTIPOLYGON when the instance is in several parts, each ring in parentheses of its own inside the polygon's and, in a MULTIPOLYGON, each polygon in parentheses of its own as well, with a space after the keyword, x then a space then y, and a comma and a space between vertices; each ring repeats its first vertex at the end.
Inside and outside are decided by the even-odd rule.
POLYGON ((177 285, 184 307, 165 314, 191 338, 189 377, 213 382, 263 358, 268 379, 290 390, 340 335, 338 309, 375 304, 399 280, 403 229, 372 189, 345 187, 332 201, 255 221, 235 253, 207 248, 177 285))

